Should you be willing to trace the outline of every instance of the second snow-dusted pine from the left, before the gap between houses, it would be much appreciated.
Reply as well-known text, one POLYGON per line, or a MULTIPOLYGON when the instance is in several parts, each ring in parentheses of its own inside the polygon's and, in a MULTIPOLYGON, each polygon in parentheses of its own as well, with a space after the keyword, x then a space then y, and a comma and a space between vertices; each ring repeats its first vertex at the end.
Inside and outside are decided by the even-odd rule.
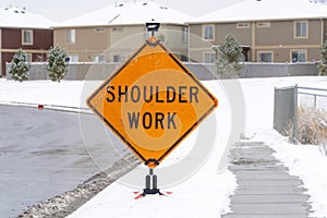
POLYGON ((65 62, 66 53, 59 46, 55 48, 50 48, 47 53, 47 66, 46 69, 49 71, 49 77, 53 82, 60 83, 62 78, 64 78, 68 65, 65 62))

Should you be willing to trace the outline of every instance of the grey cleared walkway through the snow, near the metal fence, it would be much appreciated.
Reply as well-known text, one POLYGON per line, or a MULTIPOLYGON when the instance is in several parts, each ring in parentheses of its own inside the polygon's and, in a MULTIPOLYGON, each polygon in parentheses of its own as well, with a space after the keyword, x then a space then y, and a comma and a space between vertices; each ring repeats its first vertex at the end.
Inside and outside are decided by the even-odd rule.
POLYGON ((288 173, 263 143, 243 143, 231 152, 230 170, 239 187, 231 196, 232 214, 223 218, 306 218, 308 196, 301 180, 288 173))

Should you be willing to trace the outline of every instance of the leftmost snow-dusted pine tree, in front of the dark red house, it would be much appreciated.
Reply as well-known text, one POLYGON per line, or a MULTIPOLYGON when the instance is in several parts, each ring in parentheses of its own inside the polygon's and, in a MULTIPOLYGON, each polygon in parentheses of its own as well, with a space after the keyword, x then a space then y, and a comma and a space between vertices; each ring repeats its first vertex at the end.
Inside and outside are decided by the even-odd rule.
POLYGON ((29 69, 31 64, 27 63, 26 53, 22 49, 19 49, 11 61, 11 69, 9 73, 12 74, 13 80, 22 83, 23 81, 28 80, 27 72, 29 69))

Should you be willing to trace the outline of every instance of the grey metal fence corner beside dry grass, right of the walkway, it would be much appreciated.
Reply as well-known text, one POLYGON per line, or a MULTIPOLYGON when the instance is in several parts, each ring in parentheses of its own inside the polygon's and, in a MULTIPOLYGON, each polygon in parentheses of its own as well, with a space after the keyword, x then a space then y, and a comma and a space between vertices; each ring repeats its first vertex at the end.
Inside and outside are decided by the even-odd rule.
POLYGON ((275 88, 274 129, 290 136, 294 143, 305 143, 306 137, 310 144, 308 136, 316 135, 315 130, 327 137, 327 89, 298 85, 275 88), (317 129, 304 126, 304 121, 312 122, 317 129))

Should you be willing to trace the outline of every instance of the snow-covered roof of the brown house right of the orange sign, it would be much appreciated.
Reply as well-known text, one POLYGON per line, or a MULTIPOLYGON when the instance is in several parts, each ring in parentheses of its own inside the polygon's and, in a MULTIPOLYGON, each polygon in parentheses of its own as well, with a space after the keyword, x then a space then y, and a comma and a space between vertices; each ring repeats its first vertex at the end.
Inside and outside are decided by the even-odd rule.
POLYGON ((320 17, 327 17, 327 5, 315 0, 244 0, 199 16, 194 23, 320 17))

